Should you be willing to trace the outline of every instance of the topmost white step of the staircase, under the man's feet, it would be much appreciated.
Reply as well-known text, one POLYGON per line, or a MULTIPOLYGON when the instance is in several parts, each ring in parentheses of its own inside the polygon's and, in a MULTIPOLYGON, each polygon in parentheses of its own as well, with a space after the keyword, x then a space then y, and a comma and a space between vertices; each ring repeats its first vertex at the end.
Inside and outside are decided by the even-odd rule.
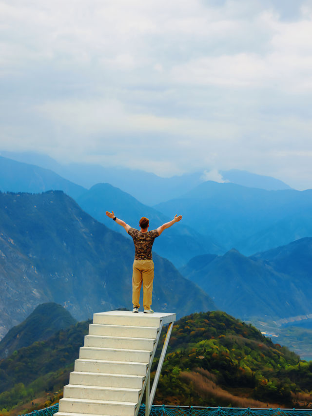
POLYGON ((160 327, 160 318, 154 316, 154 314, 147 314, 143 312, 132 313, 129 316, 118 316, 116 314, 108 314, 107 312, 94 313, 94 324, 106 324, 106 325, 130 325, 130 326, 142 326, 142 327, 160 327))

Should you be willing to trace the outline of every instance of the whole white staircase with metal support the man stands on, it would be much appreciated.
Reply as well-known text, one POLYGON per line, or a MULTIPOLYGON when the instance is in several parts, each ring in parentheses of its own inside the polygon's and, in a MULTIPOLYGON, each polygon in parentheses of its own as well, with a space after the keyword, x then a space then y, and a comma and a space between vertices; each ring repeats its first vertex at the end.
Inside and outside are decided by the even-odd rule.
POLYGON ((56 416, 136 416, 144 389, 149 414, 175 313, 95 313, 56 416), (169 324, 150 393, 150 368, 169 324))

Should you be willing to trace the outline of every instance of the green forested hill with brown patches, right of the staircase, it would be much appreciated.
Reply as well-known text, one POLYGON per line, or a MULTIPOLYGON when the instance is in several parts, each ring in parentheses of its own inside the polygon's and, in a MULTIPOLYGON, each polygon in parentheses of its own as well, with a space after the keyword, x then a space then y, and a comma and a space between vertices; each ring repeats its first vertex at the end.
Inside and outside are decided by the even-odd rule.
POLYGON ((295 393, 311 390, 312 363, 300 361, 298 355, 225 312, 206 312, 175 324, 156 400, 293 407, 295 393))

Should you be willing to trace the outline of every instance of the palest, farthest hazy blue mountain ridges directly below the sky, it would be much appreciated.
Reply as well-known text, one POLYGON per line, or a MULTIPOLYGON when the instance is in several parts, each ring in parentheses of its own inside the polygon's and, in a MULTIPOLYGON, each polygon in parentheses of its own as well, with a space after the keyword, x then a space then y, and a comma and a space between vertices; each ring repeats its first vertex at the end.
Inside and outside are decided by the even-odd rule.
MULTIPOLYGON (((155 205, 179 197, 209 178, 209 169, 163 178, 143 170, 87 163, 60 164, 47 155, 36 152, 7 152, 0 155, 18 162, 37 165, 58 173, 75 184, 90 188, 98 183, 109 183, 130 193, 145 205, 155 205)), ((290 189, 284 182, 270 176, 257 175, 245 170, 231 169, 220 172, 221 181, 245 187, 268 190, 290 189)), ((13 189, 9 189, 13 190, 13 189)), ((19 191, 26 189, 19 189, 19 191)), ((44 190, 44 189, 43 189, 44 190)), ((64 189, 62 189, 64 190, 64 189)))

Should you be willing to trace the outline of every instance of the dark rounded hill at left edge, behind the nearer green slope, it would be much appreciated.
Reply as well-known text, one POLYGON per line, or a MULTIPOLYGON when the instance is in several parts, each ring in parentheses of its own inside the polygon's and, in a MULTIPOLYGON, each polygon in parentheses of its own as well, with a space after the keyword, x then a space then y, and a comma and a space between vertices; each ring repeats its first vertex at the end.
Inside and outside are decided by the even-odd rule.
POLYGON ((39 305, 20 325, 11 328, 0 341, 0 359, 22 347, 28 347, 35 341, 46 340, 57 331, 66 329, 76 322, 61 305, 53 302, 39 305))

